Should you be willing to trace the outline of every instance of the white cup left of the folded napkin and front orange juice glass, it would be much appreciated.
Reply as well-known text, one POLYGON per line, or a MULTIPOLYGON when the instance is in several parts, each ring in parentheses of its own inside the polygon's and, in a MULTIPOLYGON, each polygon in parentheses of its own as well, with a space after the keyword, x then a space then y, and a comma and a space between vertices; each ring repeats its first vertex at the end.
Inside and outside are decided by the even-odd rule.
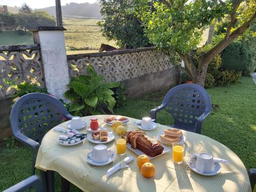
POLYGON ((88 154, 88 157, 96 163, 103 163, 109 160, 109 153, 106 145, 96 145, 93 151, 88 154))

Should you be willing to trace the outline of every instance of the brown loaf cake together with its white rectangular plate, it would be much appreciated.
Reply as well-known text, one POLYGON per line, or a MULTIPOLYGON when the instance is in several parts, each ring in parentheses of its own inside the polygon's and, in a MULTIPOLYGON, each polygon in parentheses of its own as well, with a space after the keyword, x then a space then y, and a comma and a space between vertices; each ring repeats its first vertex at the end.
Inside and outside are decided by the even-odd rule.
POLYGON ((126 146, 137 155, 147 155, 150 159, 169 152, 169 148, 162 146, 158 141, 148 137, 146 132, 134 130, 127 132, 126 146))

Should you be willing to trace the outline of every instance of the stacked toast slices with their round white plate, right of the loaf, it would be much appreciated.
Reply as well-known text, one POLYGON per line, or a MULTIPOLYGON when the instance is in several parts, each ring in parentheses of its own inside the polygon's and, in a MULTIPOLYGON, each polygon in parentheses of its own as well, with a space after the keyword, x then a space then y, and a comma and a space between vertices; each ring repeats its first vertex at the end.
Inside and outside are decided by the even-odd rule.
POLYGON ((167 145, 173 145, 174 142, 184 143, 186 137, 178 129, 167 129, 157 135, 157 140, 167 145))

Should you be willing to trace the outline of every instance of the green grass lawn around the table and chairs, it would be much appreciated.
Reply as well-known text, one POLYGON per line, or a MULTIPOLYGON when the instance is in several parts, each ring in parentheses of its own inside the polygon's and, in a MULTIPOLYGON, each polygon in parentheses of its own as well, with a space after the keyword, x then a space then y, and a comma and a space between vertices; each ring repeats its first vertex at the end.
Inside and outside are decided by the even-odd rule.
MULTIPOLYGON (((246 168, 256 167, 256 86, 251 78, 242 77, 242 83, 208 89, 214 108, 203 123, 202 134, 211 137, 236 153, 246 168)), ((142 118, 158 106, 167 91, 137 99, 129 99, 116 114, 142 118)), ((171 124, 167 111, 158 115, 158 122, 171 124)), ((30 174, 32 152, 27 147, 5 149, 0 153, 0 191, 27 178, 30 174)), ((56 191, 60 191, 57 177, 56 191)), ((79 191, 71 186, 71 191, 79 191)))

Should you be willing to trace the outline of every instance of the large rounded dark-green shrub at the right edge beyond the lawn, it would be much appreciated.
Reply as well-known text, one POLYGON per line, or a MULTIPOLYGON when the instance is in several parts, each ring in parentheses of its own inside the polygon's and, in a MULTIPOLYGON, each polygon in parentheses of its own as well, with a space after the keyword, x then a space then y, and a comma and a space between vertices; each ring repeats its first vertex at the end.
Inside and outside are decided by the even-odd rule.
POLYGON ((252 53, 244 41, 232 42, 222 51, 221 57, 221 68, 223 70, 240 71, 245 76, 248 76, 254 70, 252 53))

